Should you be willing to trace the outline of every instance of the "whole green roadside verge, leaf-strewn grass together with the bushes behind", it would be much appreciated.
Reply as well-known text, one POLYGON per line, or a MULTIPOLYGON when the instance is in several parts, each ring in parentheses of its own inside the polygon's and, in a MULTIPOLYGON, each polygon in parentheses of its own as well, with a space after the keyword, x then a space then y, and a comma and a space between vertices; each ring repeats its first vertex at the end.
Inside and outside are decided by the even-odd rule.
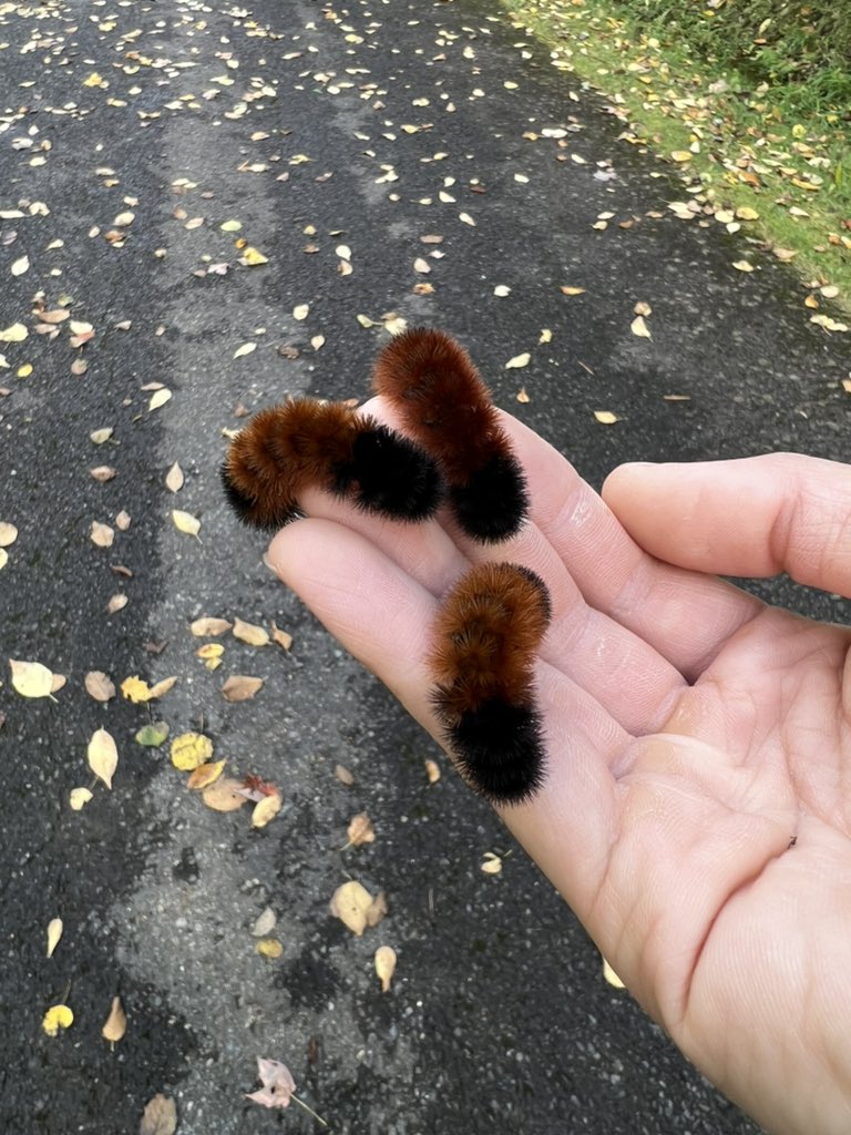
POLYGON ((743 210, 734 224, 829 319, 851 312, 851 11, 824 2, 502 0, 677 169, 685 200, 722 224, 743 210))

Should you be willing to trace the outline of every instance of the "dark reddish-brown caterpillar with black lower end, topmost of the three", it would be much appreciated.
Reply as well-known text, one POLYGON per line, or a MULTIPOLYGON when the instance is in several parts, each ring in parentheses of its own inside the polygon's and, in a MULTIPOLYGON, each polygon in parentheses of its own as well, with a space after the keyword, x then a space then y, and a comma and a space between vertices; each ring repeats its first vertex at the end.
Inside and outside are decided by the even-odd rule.
POLYGON ((463 531, 489 544, 514 536, 529 507, 525 478, 466 351, 444 331, 412 328, 381 351, 372 385, 437 461, 463 531))

